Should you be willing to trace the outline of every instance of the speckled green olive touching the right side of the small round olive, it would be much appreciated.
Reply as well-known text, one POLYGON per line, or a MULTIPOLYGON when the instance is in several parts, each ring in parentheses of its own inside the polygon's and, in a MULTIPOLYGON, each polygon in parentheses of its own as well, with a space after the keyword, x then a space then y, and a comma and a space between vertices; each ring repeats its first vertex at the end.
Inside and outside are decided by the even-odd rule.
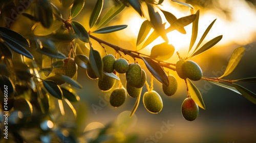
POLYGON ((138 86, 141 82, 142 70, 139 64, 131 63, 129 70, 126 72, 125 78, 128 84, 138 86))

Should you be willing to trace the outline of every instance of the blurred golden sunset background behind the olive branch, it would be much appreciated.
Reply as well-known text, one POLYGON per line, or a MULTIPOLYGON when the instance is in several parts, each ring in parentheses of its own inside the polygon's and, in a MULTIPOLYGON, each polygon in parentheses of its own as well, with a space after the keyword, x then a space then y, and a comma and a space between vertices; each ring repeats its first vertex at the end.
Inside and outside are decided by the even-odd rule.
MULTIPOLYGON (((202 35, 209 23, 216 18, 217 21, 207 35, 205 42, 218 35, 223 35, 223 39, 212 49, 192 59, 201 66, 204 76, 215 77, 223 74, 223 67, 227 65, 229 56, 239 46, 245 47, 245 55, 238 67, 226 79, 255 76, 255 1, 187 2, 194 6, 195 12, 200 9, 198 37, 202 35)), ((110 1, 109 3, 111 4, 112 2, 110 1)), ((190 14, 190 10, 187 7, 170 1, 164 1, 163 6, 163 9, 172 12, 178 18, 190 14)), ((87 5, 86 7, 90 6, 87 5)), ((107 3, 105 3, 105 7, 108 7, 107 3)), ((103 13, 106 9, 103 9, 103 13)), ((90 12, 84 12, 84 15, 79 17, 78 20, 87 26, 89 15, 90 12)), ((110 25, 127 24, 129 25, 127 29, 108 35, 95 35, 125 49, 136 50, 136 37, 144 20, 132 8, 126 8, 110 25)), ((185 29, 187 31, 186 35, 176 31, 168 34, 169 43, 173 44, 183 57, 186 56, 189 47, 191 25, 185 27, 185 29)), ((152 46, 161 42, 163 42, 161 38, 157 39, 140 52, 150 54, 152 46)), ((98 43, 95 42, 94 47, 104 55, 98 43)), ((109 47, 106 47, 106 49, 108 53, 114 54, 114 51, 109 47)), ((168 61, 175 63, 177 60, 178 56, 174 55, 168 61)), ((140 60, 138 62, 142 63, 140 60)), ((143 63, 141 66, 146 69, 143 63)), ((147 69, 146 72, 147 81, 150 82, 150 73, 148 73, 147 69)), ((141 100, 134 117, 130 119, 132 123, 128 125, 130 128, 127 128, 127 134, 137 134, 137 142, 256 142, 256 106, 254 104, 228 89, 217 87, 203 80, 197 81, 194 84, 197 85, 202 93, 206 110, 200 109, 197 120, 188 122, 182 117, 180 111, 181 104, 186 98, 185 83, 179 79, 175 72, 170 71, 170 74, 176 76, 178 80, 178 91, 173 97, 165 96, 161 89, 162 85, 157 80, 154 80, 154 90, 163 99, 163 110, 158 114, 151 114, 146 111, 141 100), (168 129, 167 133, 160 133, 162 126, 164 126, 163 122, 173 125, 168 129), (155 140, 146 140, 152 136, 154 136, 155 140)), ((88 79, 83 69, 79 69, 78 77, 81 77, 78 78, 78 82, 83 85, 83 90, 79 91, 78 94, 87 103, 88 123, 95 124, 95 126, 98 124, 105 125, 118 121, 119 114, 125 114, 126 118, 129 118, 129 112, 132 110, 136 99, 128 97, 124 105, 117 109, 111 107, 109 103, 105 106, 100 106, 103 104, 102 98, 108 97, 110 92, 101 92, 96 86, 97 81, 88 79), (94 105, 101 108, 95 111, 93 109, 94 105)), ((124 76, 121 75, 120 78, 125 85, 124 76)), ((255 83, 240 84, 256 92, 255 83)), ((146 92, 145 87, 142 90, 142 93, 144 92, 146 92)))

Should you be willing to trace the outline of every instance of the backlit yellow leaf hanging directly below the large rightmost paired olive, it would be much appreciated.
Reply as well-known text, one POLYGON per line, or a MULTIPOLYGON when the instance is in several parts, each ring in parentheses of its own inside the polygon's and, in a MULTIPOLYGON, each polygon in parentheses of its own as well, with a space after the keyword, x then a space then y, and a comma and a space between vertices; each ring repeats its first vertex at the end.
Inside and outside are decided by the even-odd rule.
POLYGON ((202 98, 202 95, 198 88, 191 82, 189 79, 187 79, 187 85, 188 85, 188 92, 190 94, 190 97, 196 102, 196 104, 202 108, 205 109, 204 101, 202 98))

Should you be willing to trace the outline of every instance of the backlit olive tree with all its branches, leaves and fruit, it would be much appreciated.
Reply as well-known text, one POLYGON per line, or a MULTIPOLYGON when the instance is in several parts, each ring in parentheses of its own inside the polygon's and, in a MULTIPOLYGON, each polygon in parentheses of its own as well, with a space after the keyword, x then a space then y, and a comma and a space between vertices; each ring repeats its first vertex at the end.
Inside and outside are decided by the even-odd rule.
MULTIPOLYGON (((246 82, 253 84, 255 77, 225 78, 239 64, 245 47, 240 46, 230 53, 222 75, 206 77, 193 61, 194 57, 222 39, 223 36, 219 35, 205 41, 216 19, 209 21, 204 33, 198 35, 200 10, 190 4, 172 2, 190 10, 186 16, 177 18, 172 11, 163 9, 161 0, 111 1, 108 5, 112 7, 103 13, 106 2, 98 0, 93 3, 94 8, 88 8, 90 15, 82 11, 87 4, 84 0, 1 2, 1 102, 2 113, 8 114, 8 126, 4 122, 7 116, 2 115, 3 130, 6 132, 8 129, 8 134, 2 134, 4 138, 8 136, 16 142, 134 142, 137 135, 122 135, 127 128, 125 125, 135 120, 133 116, 138 106, 143 104, 148 112, 159 113, 164 108, 164 94, 166 97, 174 96, 179 86, 186 90, 184 102, 180 105, 181 113, 186 120, 194 121, 199 115, 198 107, 206 109, 201 94, 204 90, 200 91, 194 82, 199 80, 229 89, 256 103, 255 93, 244 87, 246 82), (124 48, 122 42, 115 44, 101 36, 129 27, 110 23, 118 19, 117 16, 127 7, 132 7, 145 19, 141 26, 137 26, 140 30, 136 47, 131 49, 124 48), (87 26, 77 18, 81 14, 88 15, 87 26), (184 27, 188 25, 192 25, 191 38, 184 54, 169 43, 167 33, 178 31, 186 34, 184 27), (163 42, 150 47, 150 54, 143 52, 158 37, 163 42), (81 75, 78 75, 78 69, 81 75), (122 120, 127 115, 124 112, 119 115, 122 122, 110 123, 96 129, 97 132, 88 126, 85 128, 84 110, 87 107, 77 94, 83 86, 77 81, 85 75, 96 81, 94 86, 98 86, 97 90, 108 94, 98 105, 92 104, 92 110, 95 113, 101 110, 105 101, 115 108, 121 107, 128 95, 136 99, 129 112, 131 121, 122 120), (161 91, 154 88, 154 81, 161 85, 161 91), (142 90, 143 87, 147 91, 142 90), (35 133, 24 135, 31 131, 35 133), (95 137, 88 135, 92 133, 95 137)), ((88 92, 81 94, 89 96, 88 92)), ((8 141, 4 138, 3 141, 8 141)), ((145 139, 150 140, 154 141, 145 139)))

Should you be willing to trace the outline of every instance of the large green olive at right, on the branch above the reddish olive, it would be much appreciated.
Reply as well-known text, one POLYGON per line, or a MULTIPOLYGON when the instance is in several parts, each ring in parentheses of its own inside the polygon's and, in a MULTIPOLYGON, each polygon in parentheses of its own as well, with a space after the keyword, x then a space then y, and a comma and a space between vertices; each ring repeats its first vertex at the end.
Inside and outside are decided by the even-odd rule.
POLYGON ((193 81, 198 81, 203 76, 202 69, 194 61, 185 61, 182 65, 182 71, 188 79, 193 81))

